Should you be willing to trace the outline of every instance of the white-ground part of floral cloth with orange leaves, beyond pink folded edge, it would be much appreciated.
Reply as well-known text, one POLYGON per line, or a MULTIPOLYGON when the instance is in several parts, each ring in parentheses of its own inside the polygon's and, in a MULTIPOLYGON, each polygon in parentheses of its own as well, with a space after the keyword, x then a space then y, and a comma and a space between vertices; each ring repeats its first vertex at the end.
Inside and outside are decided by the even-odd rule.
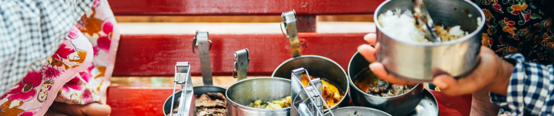
POLYGON ((114 14, 106 0, 95 0, 93 7, 75 26, 92 44, 93 62, 61 88, 56 101, 68 104, 103 103, 119 44, 119 28, 114 14))

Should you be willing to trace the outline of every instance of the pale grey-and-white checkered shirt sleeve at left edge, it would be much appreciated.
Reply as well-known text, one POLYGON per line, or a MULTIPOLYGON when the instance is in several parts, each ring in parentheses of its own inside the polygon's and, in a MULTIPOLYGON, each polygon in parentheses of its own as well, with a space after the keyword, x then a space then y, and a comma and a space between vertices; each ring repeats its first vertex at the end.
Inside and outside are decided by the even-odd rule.
POLYGON ((0 0, 0 95, 58 49, 93 0, 0 0))

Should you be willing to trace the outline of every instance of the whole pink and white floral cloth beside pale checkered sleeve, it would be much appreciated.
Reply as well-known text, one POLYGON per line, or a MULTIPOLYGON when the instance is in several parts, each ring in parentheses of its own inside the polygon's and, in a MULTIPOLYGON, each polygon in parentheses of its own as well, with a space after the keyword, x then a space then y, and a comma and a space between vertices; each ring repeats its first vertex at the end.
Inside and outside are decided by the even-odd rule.
POLYGON ((44 115, 54 101, 105 103, 118 44, 109 4, 95 0, 48 62, 0 95, 0 116, 44 115))

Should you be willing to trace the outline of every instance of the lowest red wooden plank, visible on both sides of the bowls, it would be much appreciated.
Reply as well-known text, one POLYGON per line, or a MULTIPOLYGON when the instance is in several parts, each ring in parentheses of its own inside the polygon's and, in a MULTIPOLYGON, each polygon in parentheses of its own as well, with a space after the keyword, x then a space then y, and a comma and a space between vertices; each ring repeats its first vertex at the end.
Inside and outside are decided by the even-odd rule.
MULTIPOLYGON (((162 105, 171 90, 172 87, 111 86, 107 91, 110 115, 163 115, 162 105)), ((440 92, 432 93, 437 98, 440 115, 469 115, 471 95, 447 97, 440 92)))

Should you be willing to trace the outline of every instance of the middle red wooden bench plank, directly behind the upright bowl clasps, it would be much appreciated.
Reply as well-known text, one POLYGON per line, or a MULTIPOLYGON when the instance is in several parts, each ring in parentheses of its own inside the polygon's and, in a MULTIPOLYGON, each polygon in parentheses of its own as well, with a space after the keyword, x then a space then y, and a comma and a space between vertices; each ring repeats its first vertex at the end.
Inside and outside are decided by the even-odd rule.
MULTIPOLYGON (((330 58, 347 69, 356 48, 365 44, 366 33, 299 33, 302 53, 330 58)), ((114 76, 172 76, 176 62, 189 62, 192 75, 200 75, 199 56, 192 53, 192 34, 121 36, 114 76)), ((292 57, 288 38, 283 34, 210 34, 214 75, 231 75, 233 52, 248 48, 249 75, 271 75, 292 57)))

